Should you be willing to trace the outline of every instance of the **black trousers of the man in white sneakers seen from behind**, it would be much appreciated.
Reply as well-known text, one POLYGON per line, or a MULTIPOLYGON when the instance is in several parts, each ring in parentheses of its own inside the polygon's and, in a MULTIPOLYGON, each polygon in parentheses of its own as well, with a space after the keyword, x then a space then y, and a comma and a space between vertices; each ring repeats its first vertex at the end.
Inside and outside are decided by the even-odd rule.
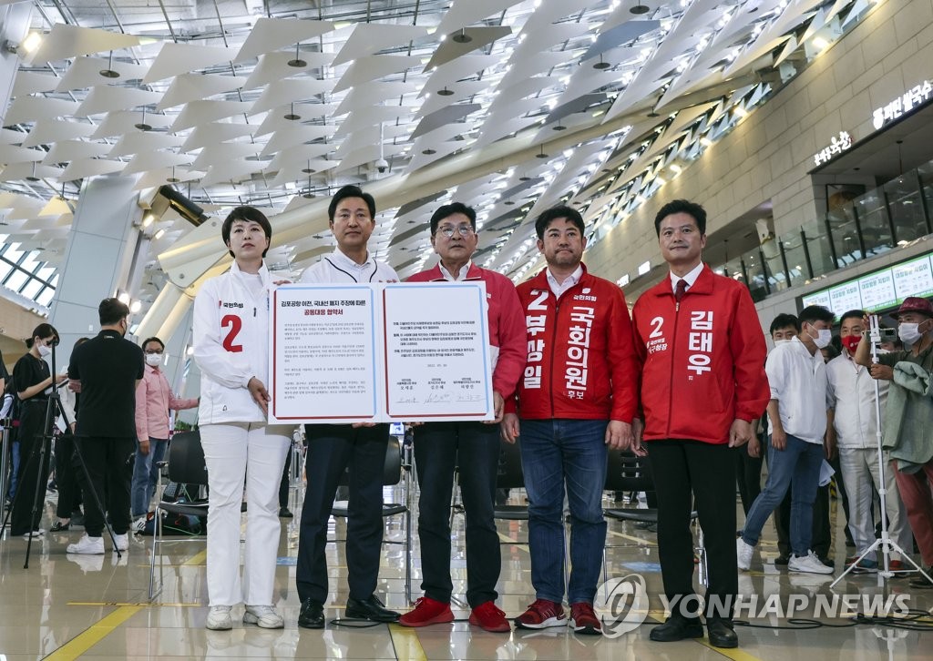
POLYGON ((97 508, 94 494, 100 499, 114 534, 130 530, 130 489, 132 466, 136 458, 136 439, 128 437, 76 436, 75 443, 88 466, 91 483, 84 503, 84 530, 89 537, 104 532, 104 512, 97 508), (93 493, 90 492, 93 489, 93 493))

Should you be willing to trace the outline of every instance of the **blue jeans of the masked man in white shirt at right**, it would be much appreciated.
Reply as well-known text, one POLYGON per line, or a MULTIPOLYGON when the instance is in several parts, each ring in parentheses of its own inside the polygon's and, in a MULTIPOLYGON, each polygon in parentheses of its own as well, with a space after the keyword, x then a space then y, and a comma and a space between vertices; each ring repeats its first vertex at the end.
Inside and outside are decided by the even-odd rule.
POLYGON ((768 481, 745 518, 745 530, 742 530, 745 544, 758 544, 765 521, 781 504, 789 488, 790 552, 798 558, 809 553, 822 463, 822 444, 807 443, 787 434, 787 445, 779 450, 774 448, 771 438, 768 439, 768 481))

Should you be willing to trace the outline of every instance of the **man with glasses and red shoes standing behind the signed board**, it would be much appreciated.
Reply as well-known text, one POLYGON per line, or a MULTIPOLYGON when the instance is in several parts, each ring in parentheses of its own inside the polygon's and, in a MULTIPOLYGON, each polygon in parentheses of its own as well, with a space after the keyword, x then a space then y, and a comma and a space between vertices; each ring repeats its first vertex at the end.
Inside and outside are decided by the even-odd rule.
POLYGON ((495 420, 425 422, 414 429, 414 457, 421 485, 418 537, 422 589, 414 610, 398 620, 403 627, 453 622, 451 612, 451 492, 459 465, 466 514, 466 601, 469 623, 486 631, 511 631, 495 605, 499 580, 499 536, 495 531, 494 492, 500 440, 498 422, 506 398, 513 396, 525 362, 525 325, 515 285, 501 273, 480 269, 471 257, 479 236, 476 212, 461 202, 445 204, 431 216, 431 244, 440 255, 433 269, 408 282, 486 283, 486 314, 493 356, 495 420))

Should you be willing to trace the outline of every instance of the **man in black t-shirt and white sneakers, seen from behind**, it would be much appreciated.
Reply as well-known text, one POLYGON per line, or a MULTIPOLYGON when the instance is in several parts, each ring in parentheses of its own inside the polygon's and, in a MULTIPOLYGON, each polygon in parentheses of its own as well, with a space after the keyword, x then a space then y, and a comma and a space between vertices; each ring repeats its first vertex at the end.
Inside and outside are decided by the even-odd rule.
MULTIPOLYGON (((77 449, 84 457, 90 489, 110 514, 117 549, 129 548, 130 484, 136 451, 136 386, 143 379, 143 350, 126 335, 130 309, 116 298, 104 298, 98 307, 101 332, 75 348, 68 377, 77 381, 81 415, 75 429, 77 449)), ((104 553, 104 513, 87 493, 84 530, 68 553, 104 553)))

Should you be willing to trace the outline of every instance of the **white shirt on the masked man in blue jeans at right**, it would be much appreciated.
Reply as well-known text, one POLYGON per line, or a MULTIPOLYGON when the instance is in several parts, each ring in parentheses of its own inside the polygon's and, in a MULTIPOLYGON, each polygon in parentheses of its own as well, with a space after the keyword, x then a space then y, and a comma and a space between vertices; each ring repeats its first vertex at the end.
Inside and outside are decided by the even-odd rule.
MULTIPOLYGON (((823 444, 828 408, 826 364, 823 353, 810 350, 794 337, 768 354, 764 366, 777 400, 784 431, 808 443, 823 444)), ((771 417, 768 432, 773 432, 771 417)))

